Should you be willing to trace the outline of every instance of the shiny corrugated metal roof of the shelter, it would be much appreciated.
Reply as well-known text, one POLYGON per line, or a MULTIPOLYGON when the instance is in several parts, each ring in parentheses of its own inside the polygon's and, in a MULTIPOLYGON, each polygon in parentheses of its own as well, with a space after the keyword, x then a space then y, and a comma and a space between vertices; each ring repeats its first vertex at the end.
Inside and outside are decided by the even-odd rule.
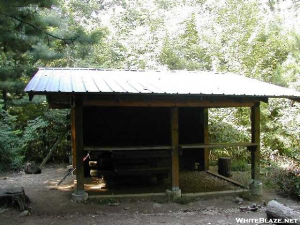
POLYGON ((300 97, 300 92, 233 73, 39 68, 26 92, 92 92, 300 97))

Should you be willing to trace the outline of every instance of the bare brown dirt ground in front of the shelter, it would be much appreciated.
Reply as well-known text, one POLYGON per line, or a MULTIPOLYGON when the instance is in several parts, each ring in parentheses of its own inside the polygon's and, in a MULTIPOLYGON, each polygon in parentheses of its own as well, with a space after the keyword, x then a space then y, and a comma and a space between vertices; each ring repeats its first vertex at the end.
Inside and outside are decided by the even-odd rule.
POLYGON ((70 200, 71 177, 59 188, 55 187, 65 171, 64 166, 54 164, 47 165, 40 174, 0 174, 0 188, 23 186, 31 200, 31 215, 18 217, 19 210, 8 208, 0 213, 0 224, 238 224, 237 217, 266 218, 262 202, 273 198, 300 210, 299 202, 266 189, 261 199, 242 204, 261 204, 256 212, 241 212, 232 196, 203 198, 187 204, 157 203, 149 199, 121 200, 118 206, 100 204, 99 200, 78 203, 70 200))

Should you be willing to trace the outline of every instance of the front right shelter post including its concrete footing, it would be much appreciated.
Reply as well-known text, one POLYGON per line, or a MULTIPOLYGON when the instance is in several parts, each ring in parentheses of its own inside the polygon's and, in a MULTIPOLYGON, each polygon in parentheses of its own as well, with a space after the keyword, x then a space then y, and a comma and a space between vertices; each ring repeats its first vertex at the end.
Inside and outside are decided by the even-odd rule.
POLYGON ((259 178, 259 160, 260 160, 260 108, 259 102, 251 107, 251 142, 256 143, 256 146, 251 146, 251 178, 250 190, 253 194, 262 194, 262 183, 259 178))

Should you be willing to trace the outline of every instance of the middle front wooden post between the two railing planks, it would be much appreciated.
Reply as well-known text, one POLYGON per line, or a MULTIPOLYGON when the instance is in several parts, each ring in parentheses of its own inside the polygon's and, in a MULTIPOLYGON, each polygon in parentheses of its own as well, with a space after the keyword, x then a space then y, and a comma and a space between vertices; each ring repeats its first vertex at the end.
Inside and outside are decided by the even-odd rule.
POLYGON ((171 170, 172 191, 179 190, 179 138, 178 138, 178 107, 170 108, 170 131, 171 131, 171 170))

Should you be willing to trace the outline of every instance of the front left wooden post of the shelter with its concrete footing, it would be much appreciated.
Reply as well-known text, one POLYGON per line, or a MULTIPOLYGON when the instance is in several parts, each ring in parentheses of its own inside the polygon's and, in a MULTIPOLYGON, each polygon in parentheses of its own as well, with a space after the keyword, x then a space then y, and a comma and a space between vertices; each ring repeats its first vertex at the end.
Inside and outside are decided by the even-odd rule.
MULTIPOLYGON (((82 201, 87 199, 84 192, 84 165, 83 165, 83 121, 82 121, 82 100, 75 98, 75 105, 72 110, 72 151, 75 152, 76 163, 76 191, 72 193, 72 199, 82 201)), ((74 157, 74 155, 73 155, 74 157)))

